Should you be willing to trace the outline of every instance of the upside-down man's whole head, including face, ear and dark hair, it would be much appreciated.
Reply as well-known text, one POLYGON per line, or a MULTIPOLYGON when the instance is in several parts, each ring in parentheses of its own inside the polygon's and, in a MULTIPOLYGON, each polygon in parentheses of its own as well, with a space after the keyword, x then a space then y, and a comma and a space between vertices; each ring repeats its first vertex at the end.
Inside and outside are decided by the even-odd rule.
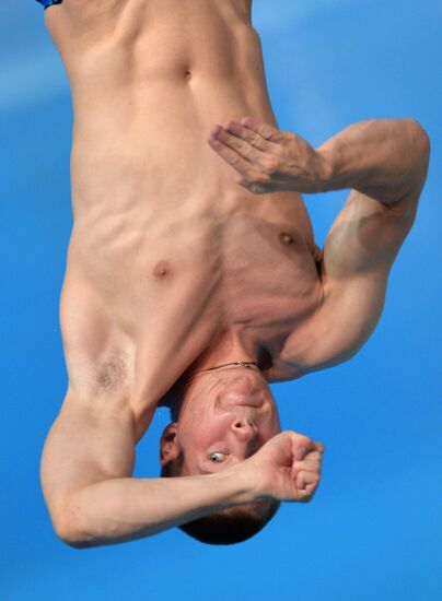
MULTIPOLYGON (((274 397, 256 368, 223 367, 197 374, 172 405, 163 432, 162 476, 208 474, 243 461, 281 428, 274 397)), ((279 503, 263 500, 224 509, 182 526, 201 542, 230 544, 253 537, 279 503)))

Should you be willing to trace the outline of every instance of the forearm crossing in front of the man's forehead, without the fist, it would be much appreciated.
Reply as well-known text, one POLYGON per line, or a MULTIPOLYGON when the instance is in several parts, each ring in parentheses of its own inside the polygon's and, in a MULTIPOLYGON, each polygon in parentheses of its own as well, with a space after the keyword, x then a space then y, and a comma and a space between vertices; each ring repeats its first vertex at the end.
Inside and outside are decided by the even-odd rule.
POLYGON ((72 495, 59 534, 77 547, 123 542, 255 498, 247 475, 235 468, 198 476, 112 479, 72 495))

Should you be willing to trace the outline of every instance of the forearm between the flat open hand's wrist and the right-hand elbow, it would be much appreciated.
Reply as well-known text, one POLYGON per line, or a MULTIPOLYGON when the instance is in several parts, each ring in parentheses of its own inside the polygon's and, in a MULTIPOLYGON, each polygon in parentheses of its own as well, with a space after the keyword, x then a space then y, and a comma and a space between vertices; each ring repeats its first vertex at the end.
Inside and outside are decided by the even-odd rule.
POLYGON ((430 143, 412 119, 374 119, 349 126, 316 151, 329 166, 327 190, 351 188, 393 203, 423 182, 430 143))

